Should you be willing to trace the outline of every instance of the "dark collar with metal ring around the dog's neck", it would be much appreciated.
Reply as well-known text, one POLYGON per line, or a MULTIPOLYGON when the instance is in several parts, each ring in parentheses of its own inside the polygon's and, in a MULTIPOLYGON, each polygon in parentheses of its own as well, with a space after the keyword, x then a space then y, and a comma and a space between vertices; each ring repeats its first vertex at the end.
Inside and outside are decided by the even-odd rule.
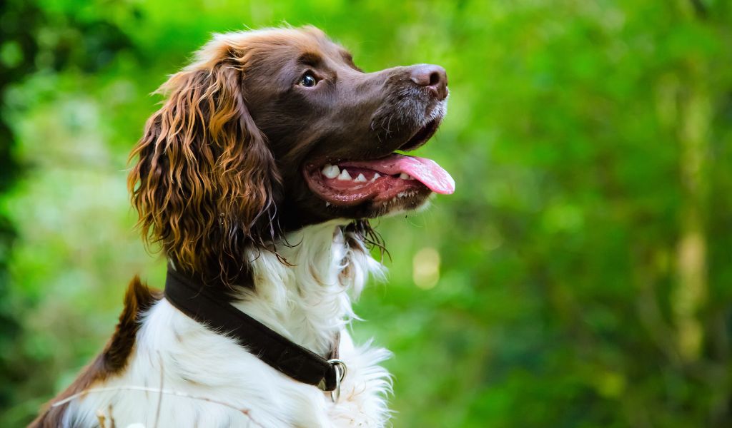
MULTIPOLYGON (((261 322, 236 309, 203 283, 168 267, 165 298, 190 318, 213 332, 234 337, 246 348, 285 375, 323 391, 335 391, 343 373, 337 363, 329 362, 302 346, 277 334, 261 322)), ((337 342, 331 359, 337 359, 337 342)))

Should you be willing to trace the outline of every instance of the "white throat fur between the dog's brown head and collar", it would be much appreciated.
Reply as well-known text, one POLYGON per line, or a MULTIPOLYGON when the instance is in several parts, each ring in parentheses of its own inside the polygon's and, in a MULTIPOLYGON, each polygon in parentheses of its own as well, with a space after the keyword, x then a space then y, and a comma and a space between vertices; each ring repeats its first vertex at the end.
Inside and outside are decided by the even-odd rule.
POLYGON ((288 234, 277 253, 250 255, 253 288, 239 290, 235 302, 294 343, 325 355, 337 334, 356 318, 351 302, 368 276, 382 274, 362 240, 344 231, 344 221, 330 221, 288 234))

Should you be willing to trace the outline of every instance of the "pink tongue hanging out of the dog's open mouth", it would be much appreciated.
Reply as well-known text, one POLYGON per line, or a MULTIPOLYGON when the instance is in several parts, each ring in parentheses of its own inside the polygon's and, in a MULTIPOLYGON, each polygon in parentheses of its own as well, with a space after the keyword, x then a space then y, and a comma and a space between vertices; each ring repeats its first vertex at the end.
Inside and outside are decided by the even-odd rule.
POLYGON ((389 175, 404 172, 411 175, 438 194, 449 195, 455 191, 455 180, 436 161, 417 156, 397 155, 370 162, 370 167, 389 175))

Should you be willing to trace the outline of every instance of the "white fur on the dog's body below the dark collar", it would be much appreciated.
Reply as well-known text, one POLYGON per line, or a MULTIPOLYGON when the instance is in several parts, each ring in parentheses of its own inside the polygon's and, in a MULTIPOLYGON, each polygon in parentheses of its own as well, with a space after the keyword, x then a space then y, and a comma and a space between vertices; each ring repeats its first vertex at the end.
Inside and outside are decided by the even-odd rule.
POLYGON ((387 351, 356 348, 344 330, 340 354, 348 374, 333 403, 162 300, 146 316, 128 370, 75 402, 68 422, 97 426, 103 414, 115 427, 383 426, 390 383, 378 362, 387 351))

